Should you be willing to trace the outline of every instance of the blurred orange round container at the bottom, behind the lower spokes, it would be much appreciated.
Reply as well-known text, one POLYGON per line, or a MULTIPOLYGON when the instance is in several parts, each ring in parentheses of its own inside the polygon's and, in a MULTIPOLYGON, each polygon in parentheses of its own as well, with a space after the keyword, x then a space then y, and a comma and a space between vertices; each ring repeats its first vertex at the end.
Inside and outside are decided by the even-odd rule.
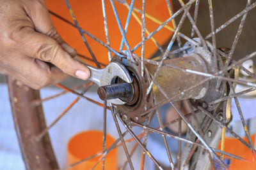
MULTIPOLYGON (((73 136, 67 145, 67 163, 68 165, 74 164, 79 160, 86 159, 96 153, 102 152, 102 136, 101 131, 85 131, 73 136)), ((109 148, 115 139, 107 134, 106 136, 106 149, 109 148)), ((99 158, 94 157, 93 159, 87 160, 74 167, 69 168, 70 170, 86 170, 92 169, 92 167, 98 162, 99 158)), ((117 149, 111 150, 105 158, 105 169, 115 170, 117 169, 117 149)), ((102 169, 102 161, 95 167, 95 170, 102 169)))

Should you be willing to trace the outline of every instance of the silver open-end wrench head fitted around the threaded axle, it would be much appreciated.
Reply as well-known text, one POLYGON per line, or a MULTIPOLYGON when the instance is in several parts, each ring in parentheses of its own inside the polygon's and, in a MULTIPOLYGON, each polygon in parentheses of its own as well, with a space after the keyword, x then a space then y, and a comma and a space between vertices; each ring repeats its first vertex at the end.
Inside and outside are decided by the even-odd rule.
MULTIPOLYGON (((117 77, 127 83, 132 83, 129 71, 127 71, 125 66, 120 64, 120 62, 109 62, 108 66, 104 67, 104 69, 97 69, 92 66, 88 66, 88 68, 91 71, 89 80, 99 85, 99 87, 115 83, 114 81, 117 77)), ((109 99, 108 101, 113 104, 125 104, 125 102, 120 99, 109 99)))

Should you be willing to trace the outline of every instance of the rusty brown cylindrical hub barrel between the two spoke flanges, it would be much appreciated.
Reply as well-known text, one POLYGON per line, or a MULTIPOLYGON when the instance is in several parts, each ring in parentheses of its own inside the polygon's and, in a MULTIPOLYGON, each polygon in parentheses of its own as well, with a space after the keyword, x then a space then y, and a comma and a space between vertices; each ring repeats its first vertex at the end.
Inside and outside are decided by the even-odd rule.
MULTIPOLYGON (((146 63, 145 66, 147 67, 149 73, 154 76, 158 65, 146 63)), ((164 65, 161 67, 159 74, 156 76, 156 82, 161 86, 164 92, 166 92, 166 95, 170 98, 177 96, 175 99, 173 99, 173 101, 180 101, 189 98, 200 99, 204 97, 208 90, 207 82, 189 92, 178 95, 184 90, 189 89, 189 87, 196 85, 196 83, 205 80, 205 77, 198 74, 186 73, 176 67, 204 73, 208 72, 207 65, 205 64, 204 60, 196 53, 189 53, 189 56, 187 57, 164 60, 164 65)), ((154 96, 156 97, 156 103, 161 103, 166 100, 166 97, 164 97, 156 85, 153 85, 152 90, 154 92, 154 96)))

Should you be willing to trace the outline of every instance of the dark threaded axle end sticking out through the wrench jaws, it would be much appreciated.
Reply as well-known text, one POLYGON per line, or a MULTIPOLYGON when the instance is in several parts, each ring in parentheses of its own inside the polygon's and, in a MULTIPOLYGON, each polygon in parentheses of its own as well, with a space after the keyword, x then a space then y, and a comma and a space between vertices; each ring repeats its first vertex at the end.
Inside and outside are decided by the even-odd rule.
POLYGON ((126 82, 99 87, 97 92, 100 99, 103 101, 109 99, 121 99, 122 101, 129 102, 133 98, 132 85, 131 83, 126 82))

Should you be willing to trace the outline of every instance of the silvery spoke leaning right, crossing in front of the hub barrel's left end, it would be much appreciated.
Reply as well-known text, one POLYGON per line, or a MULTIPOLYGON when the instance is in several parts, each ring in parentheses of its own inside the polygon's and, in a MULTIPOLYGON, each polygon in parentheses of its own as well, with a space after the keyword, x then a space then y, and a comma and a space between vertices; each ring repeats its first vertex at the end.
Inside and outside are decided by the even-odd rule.
POLYGON ((154 77, 152 78, 152 81, 150 82, 150 85, 149 85, 149 87, 147 89, 147 96, 150 93, 150 91, 151 91, 151 89, 152 89, 152 87, 154 85, 154 81, 156 81, 156 76, 157 76, 157 74, 159 74, 159 71, 160 71, 161 67, 163 66, 164 60, 166 59, 166 57, 168 57, 168 54, 169 54, 169 52, 170 52, 170 50, 172 48, 173 42, 175 41, 177 33, 179 32, 182 24, 184 23, 184 20, 186 18, 186 15, 187 15, 190 7, 191 7, 191 5, 189 5, 188 8, 186 8, 186 10, 184 11, 184 13, 183 13, 183 15, 182 15, 182 17, 180 19, 179 25, 178 25, 176 31, 174 32, 174 34, 172 36, 172 39, 171 39, 168 47, 166 48, 166 51, 164 52, 164 55, 163 55, 163 57, 161 59, 161 62, 159 64, 159 66, 157 66, 156 73, 154 74, 154 77))

